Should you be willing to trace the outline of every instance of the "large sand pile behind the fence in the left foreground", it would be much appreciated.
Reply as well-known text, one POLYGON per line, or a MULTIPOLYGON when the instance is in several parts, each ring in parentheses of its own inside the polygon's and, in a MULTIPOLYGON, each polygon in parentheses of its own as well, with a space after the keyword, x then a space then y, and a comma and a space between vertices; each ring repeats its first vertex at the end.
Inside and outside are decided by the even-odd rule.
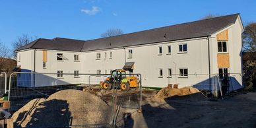
POLYGON ((65 127, 110 123, 111 106, 80 90, 61 90, 48 99, 34 99, 13 114, 18 127, 65 127))

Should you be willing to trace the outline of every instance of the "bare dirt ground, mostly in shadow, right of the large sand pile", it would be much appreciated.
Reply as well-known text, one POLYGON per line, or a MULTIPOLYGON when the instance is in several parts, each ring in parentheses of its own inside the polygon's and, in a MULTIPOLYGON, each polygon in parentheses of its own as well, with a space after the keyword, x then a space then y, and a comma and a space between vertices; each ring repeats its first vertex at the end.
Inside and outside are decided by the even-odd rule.
MULTIPOLYGON (((152 98, 157 92, 143 90, 142 113, 120 107, 117 127, 256 127, 256 92, 238 93, 217 101, 200 92, 165 100, 152 98)), ((112 101, 111 94, 111 90, 106 92, 102 99, 112 101)), ((125 96, 127 92, 117 94, 125 96)))

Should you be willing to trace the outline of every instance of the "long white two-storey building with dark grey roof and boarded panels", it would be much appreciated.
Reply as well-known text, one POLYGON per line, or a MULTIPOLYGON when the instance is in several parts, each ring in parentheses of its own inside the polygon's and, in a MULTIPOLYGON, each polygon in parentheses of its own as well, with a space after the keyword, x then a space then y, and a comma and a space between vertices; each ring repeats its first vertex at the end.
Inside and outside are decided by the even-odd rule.
POLYGON ((208 89, 209 74, 231 73, 230 84, 241 88, 242 32, 240 15, 235 14, 96 40, 40 38, 16 53, 22 71, 59 73, 52 80, 46 79, 49 75, 36 78, 45 80, 35 86, 87 79, 61 73, 109 74, 133 62, 131 71, 141 73, 143 86, 179 84, 208 89))

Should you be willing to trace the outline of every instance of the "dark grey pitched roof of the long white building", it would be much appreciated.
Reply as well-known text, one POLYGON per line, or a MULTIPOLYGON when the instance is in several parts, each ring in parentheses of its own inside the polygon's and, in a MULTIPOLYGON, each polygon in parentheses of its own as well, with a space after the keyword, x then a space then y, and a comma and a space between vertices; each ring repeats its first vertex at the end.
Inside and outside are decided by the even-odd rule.
POLYGON ((205 20, 87 41, 65 38, 54 38, 53 40, 38 39, 27 46, 17 49, 16 51, 28 48, 56 49, 64 51, 92 51, 97 49, 121 48, 125 46, 137 46, 157 42, 199 38, 210 36, 215 32, 218 32, 218 30, 222 30, 223 28, 234 24, 238 16, 239 14, 219 16, 216 18, 208 18, 205 20))

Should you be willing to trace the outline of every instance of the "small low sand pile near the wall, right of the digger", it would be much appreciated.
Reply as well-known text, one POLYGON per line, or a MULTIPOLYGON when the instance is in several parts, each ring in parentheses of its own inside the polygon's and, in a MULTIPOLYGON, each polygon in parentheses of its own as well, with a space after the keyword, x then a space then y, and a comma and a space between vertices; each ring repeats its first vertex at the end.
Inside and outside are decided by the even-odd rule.
POLYGON ((193 87, 184 87, 184 88, 172 88, 170 86, 162 88, 157 94, 154 95, 154 98, 166 99, 172 96, 185 96, 189 94, 195 94, 200 92, 197 88, 193 87))

